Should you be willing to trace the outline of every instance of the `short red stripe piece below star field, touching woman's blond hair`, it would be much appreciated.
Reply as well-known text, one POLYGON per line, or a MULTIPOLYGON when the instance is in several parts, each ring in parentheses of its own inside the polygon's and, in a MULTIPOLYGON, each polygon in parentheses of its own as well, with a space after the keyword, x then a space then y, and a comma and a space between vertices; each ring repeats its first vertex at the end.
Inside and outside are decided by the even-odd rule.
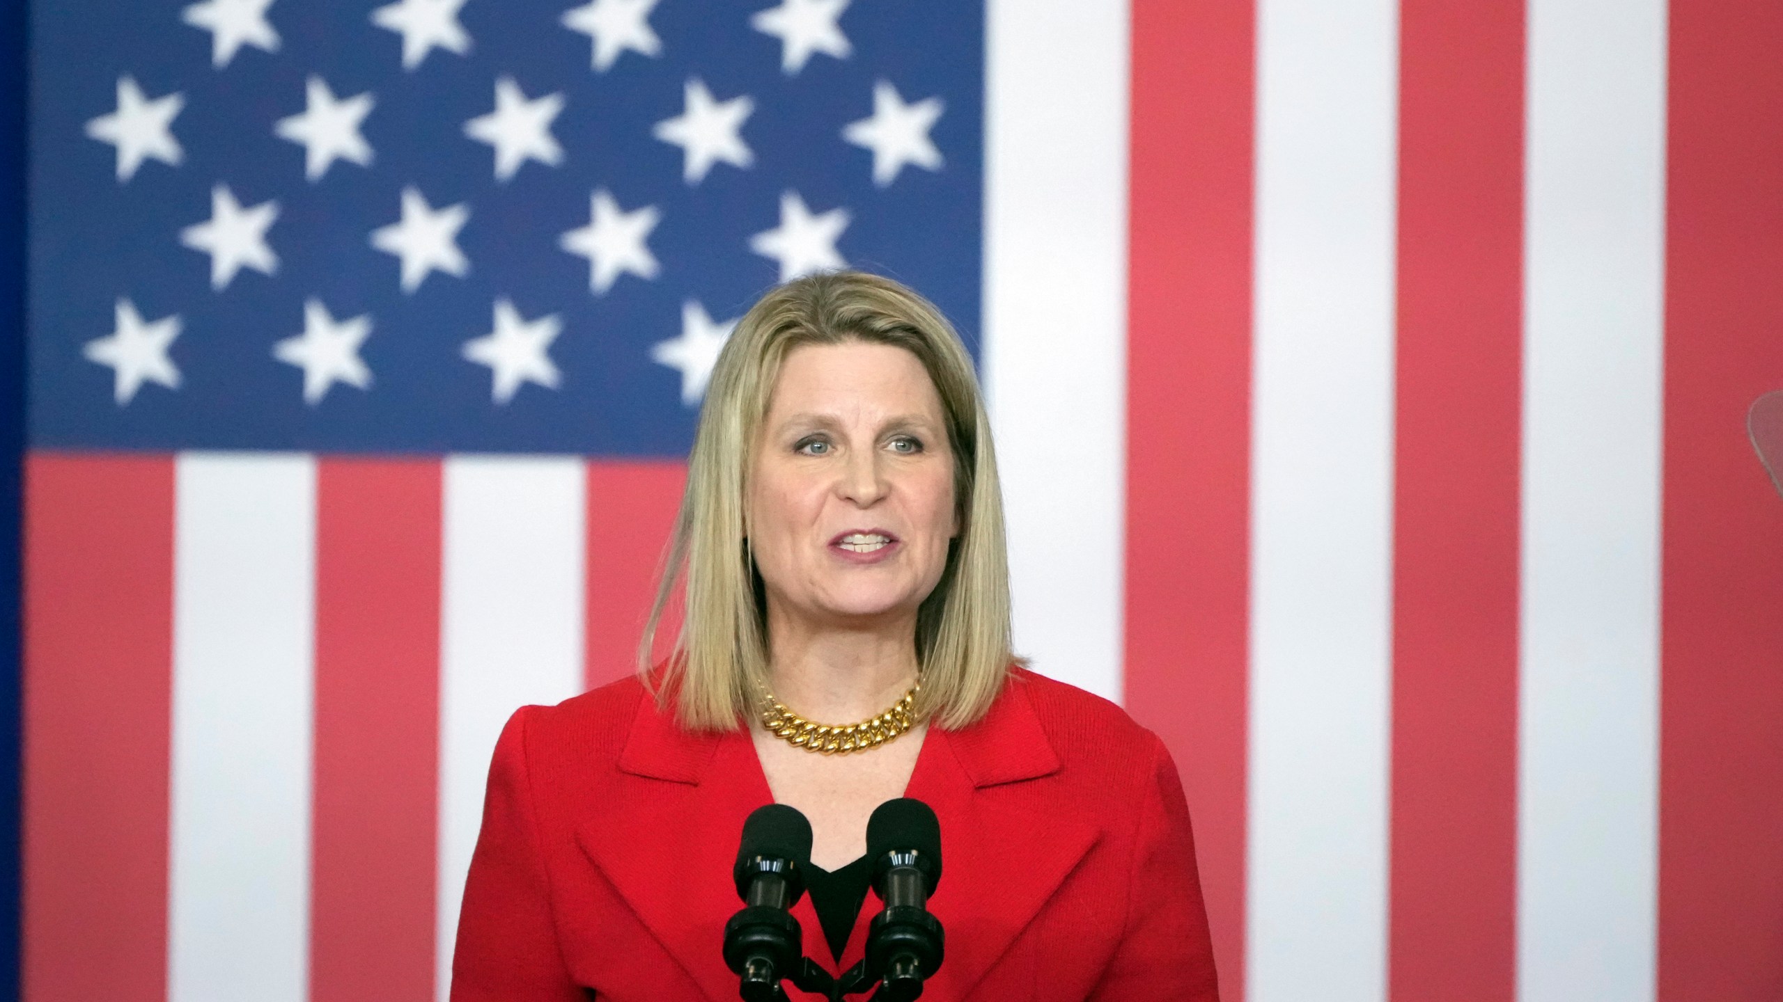
MULTIPOLYGON (((635 460, 588 464, 588 686, 635 670, 638 638, 656 597, 656 574, 674 528, 686 464, 635 460)), ((658 633, 674 642, 676 622, 658 633)))

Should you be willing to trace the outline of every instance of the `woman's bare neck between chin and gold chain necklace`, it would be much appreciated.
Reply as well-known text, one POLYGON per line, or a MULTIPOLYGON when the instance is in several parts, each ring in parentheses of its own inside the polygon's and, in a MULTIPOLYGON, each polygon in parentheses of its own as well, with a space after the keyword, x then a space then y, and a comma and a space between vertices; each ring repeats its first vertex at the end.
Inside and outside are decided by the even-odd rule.
POLYGON ((916 681, 916 617, 859 628, 768 608, 768 685, 793 713, 854 724, 884 713, 916 681))

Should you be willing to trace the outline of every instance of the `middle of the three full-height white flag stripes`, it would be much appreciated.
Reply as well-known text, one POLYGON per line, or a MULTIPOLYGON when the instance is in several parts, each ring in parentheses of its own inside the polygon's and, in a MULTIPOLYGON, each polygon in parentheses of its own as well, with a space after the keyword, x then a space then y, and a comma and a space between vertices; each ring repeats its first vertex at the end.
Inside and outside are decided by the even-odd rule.
POLYGON ((1257 21, 1253 1002, 1385 997, 1398 5, 1257 21))

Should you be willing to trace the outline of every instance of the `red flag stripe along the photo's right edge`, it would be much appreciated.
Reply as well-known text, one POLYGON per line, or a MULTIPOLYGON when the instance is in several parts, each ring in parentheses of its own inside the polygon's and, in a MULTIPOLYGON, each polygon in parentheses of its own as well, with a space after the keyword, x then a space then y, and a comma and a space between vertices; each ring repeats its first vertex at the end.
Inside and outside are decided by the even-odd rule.
POLYGON ((1671 16, 1658 997, 1783 998, 1783 5, 1671 16))

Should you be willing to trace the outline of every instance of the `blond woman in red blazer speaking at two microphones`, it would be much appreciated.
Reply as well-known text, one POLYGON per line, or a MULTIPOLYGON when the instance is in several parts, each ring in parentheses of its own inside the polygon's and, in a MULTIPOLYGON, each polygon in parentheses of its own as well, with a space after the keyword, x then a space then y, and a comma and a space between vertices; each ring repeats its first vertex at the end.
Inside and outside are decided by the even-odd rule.
POLYGON ((736 998, 731 863, 770 801, 815 833, 806 954, 847 970, 877 911, 867 818, 900 795, 941 822, 925 998, 1218 998, 1163 743, 1009 653, 990 424, 934 307, 861 273, 756 303, 713 371, 667 569, 642 647, 679 579, 665 667, 501 735, 453 1000, 736 998), (870 726, 809 738, 847 720, 870 726))

